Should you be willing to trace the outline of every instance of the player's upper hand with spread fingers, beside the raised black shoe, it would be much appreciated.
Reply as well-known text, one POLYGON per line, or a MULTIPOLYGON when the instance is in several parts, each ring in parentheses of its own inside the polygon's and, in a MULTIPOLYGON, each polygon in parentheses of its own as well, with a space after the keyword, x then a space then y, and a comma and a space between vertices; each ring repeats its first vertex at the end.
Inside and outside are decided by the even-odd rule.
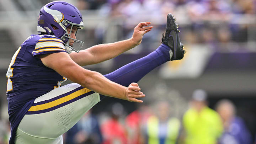
POLYGON ((132 36, 132 41, 136 44, 139 45, 142 42, 142 37, 145 33, 151 31, 153 26, 150 27, 144 27, 148 26, 151 22, 140 22, 133 31, 133 36, 132 36))

